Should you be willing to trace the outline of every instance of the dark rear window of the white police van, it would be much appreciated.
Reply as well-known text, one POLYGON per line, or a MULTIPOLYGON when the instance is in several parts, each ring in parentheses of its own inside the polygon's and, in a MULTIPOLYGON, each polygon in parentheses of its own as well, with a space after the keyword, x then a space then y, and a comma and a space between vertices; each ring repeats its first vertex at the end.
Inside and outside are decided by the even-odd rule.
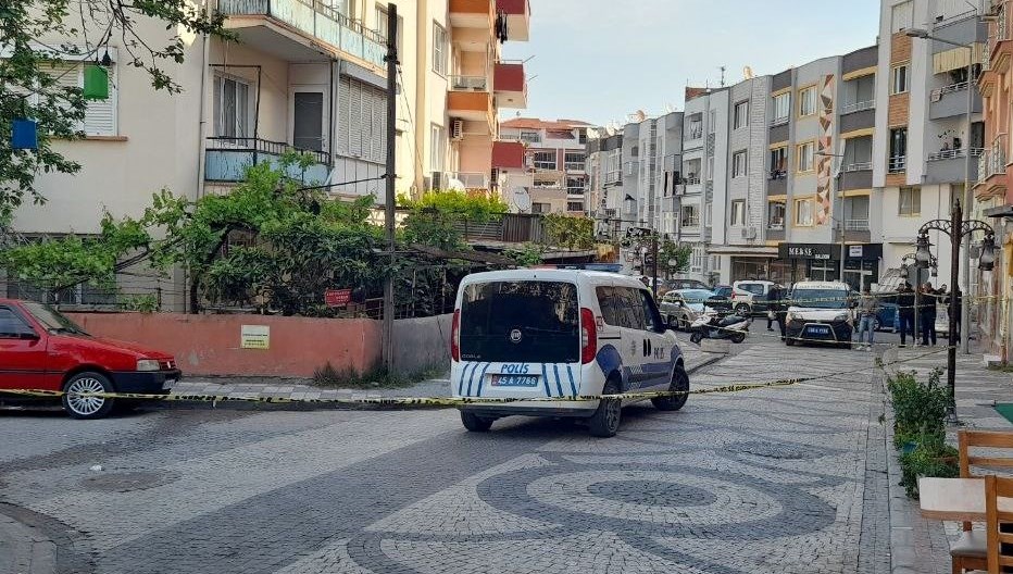
POLYGON ((461 301, 461 359, 580 362, 577 286, 560 282, 468 285, 461 301))

